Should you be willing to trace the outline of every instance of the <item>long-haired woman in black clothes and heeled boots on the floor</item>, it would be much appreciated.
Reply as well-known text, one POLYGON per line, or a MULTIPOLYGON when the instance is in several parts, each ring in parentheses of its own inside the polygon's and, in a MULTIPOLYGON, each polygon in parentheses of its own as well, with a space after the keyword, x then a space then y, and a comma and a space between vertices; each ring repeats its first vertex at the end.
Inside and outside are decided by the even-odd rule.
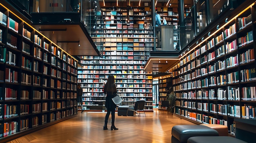
POLYGON ((107 94, 106 96, 106 102, 105 107, 107 108, 107 114, 105 117, 105 125, 103 127, 103 130, 108 130, 107 123, 108 123, 108 117, 111 112, 111 130, 118 130, 118 128, 115 127, 115 110, 117 108, 117 105, 112 101, 112 98, 114 97, 114 94, 117 93, 117 87, 115 84, 115 77, 113 75, 108 76, 108 82, 104 86, 104 93, 107 94))

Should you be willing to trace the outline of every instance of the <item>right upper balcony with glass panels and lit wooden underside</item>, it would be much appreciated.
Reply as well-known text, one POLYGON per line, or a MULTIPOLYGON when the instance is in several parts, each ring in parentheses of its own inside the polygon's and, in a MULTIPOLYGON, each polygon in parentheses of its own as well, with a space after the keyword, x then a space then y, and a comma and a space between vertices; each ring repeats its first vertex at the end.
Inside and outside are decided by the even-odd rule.
MULTIPOLYGON (((151 70, 156 74, 168 71, 178 62, 180 55, 200 43, 206 38, 205 35, 211 34, 209 29, 216 29, 216 25, 220 23, 220 20, 228 19, 231 13, 234 13, 235 9, 245 1, 246 0, 194 0, 187 11, 179 13, 179 24, 177 29, 173 29, 173 36, 166 38, 166 34, 168 36, 172 31, 163 28, 165 25, 155 27, 155 36, 153 37, 157 40, 155 47, 150 51, 149 60, 144 66, 145 71, 148 72, 151 70), (184 17, 182 18, 181 15, 184 15, 184 17), (177 41, 172 41, 176 40, 176 37, 177 41), (173 44, 166 46, 166 43, 173 44)), ((184 0, 183 2, 183 6, 181 6, 182 4, 177 5, 177 7, 179 7, 178 9, 184 8, 188 1, 184 0)))

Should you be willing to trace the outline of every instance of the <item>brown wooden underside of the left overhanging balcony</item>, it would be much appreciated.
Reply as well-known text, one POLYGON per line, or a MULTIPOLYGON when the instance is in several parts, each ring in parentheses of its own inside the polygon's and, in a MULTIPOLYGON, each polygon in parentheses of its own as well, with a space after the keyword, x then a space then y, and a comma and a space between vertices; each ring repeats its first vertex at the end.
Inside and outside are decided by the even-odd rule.
POLYGON ((79 24, 34 25, 34 27, 70 55, 99 55, 90 36, 79 24), (79 46, 80 44, 80 46, 79 46))

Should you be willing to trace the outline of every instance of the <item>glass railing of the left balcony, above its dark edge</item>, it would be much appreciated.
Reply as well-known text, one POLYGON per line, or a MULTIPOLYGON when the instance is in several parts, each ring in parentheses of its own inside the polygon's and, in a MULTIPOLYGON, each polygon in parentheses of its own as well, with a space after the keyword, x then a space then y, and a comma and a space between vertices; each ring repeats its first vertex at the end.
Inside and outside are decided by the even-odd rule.
MULTIPOLYGON (((104 22, 98 0, 34 0, 32 13, 47 13, 49 22, 82 24, 91 37, 103 37, 103 32, 99 32, 103 31, 104 22)), ((94 44, 100 51, 103 39, 94 40, 94 44)))

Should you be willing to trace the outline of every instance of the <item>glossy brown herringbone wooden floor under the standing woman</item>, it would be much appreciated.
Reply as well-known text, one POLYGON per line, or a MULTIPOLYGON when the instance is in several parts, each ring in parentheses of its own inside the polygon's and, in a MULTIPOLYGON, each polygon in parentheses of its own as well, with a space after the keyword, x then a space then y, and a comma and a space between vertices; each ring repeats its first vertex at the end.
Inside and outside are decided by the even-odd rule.
POLYGON ((103 130, 106 112, 79 112, 75 117, 27 134, 8 143, 171 143, 174 125, 193 123, 170 113, 146 112, 146 117, 117 116, 119 130, 103 130))

